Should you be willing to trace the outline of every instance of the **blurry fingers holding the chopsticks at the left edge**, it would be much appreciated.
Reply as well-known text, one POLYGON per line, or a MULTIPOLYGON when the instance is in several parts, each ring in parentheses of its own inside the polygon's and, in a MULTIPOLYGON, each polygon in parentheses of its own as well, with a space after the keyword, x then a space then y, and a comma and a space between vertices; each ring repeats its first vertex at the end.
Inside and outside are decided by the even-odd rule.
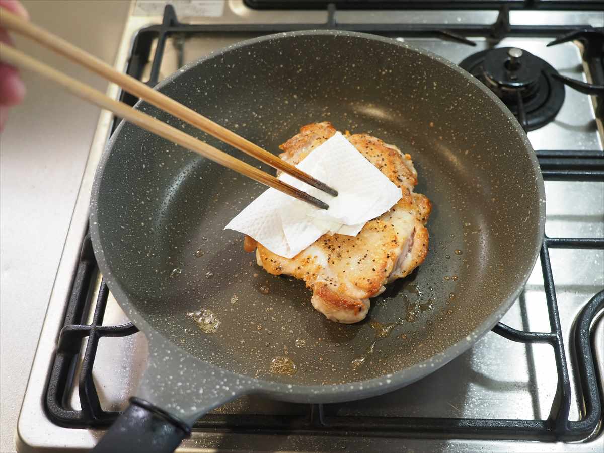
MULTIPOLYGON (((19 14, 22 18, 29 19, 27 10, 25 10, 25 7, 19 0, 0 0, 0 14, 2 14, 2 8, 19 14)), ((0 41, 13 45, 13 41, 4 28, 0 28, 0 41)), ((24 97, 25 85, 21 77, 19 77, 19 71, 13 68, 13 66, 0 63, 0 131, 4 126, 8 108, 21 103, 24 97)))

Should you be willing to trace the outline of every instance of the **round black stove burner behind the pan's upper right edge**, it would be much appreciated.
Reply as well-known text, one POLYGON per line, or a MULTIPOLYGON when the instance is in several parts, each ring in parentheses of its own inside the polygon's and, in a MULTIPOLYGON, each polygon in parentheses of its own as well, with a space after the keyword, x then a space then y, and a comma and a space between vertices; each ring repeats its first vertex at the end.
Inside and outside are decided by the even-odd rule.
POLYGON ((488 86, 527 132, 552 121, 564 103, 564 84, 554 78, 556 69, 525 50, 483 50, 459 65, 488 86))

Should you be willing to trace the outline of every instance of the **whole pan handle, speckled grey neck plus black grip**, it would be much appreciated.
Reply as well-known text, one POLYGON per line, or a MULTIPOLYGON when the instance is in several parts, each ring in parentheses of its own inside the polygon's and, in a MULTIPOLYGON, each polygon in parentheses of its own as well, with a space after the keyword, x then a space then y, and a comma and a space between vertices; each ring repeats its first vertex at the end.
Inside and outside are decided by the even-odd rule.
POLYGON ((159 333, 147 334, 147 341, 149 362, 138 396, 130 398, 95 453, 171 453, 196 420, 255 389, 250 379, 187 355, 159 333))

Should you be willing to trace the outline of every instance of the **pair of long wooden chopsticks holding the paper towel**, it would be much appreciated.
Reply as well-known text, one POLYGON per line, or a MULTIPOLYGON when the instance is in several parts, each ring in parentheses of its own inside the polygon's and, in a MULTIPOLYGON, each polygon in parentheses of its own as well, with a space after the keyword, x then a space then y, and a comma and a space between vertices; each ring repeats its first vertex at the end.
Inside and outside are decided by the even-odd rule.
MULTIPOLYGON (((248 155, 265 162, 265 164, 269 164, 271 167, 274 167, 277 170, 288 173, 288 175, 294 176, 295 178, 300 179, 300 181, 304 181, 306 184, 316 187, 332 196, 338 195, 338 192, 333 190, 333 188, 297 169, 294 167, 294 165, 283 161, 265 149, 262 149, 248 140, 245 140, 245 138, 240 137, 231 130, 214 123, 214 121, 211 121, 210 119, 198 114, 178 101, 161 94, 161 92, 150 88, 137 79, 134 79, 127 74, 122 74, 121 72, 115 71, 114 68, 87 53, 86 51, 77 48, 71 43, 46 30, 43 30, 43 28, 37 27, 37 25, 20 18, 16 14, 11 13, 4 8, 0 8, 0 25, 2 25, 4 28, 7 28, 7 30, 15 31, 16 33, 27 36, 56 52, 57 54, 65 56, 75 63, 79 63, 86 69, 95 72, 104 79, 121 86, 121 88, 127 92, 130 92, 133 95, 136 95, 155 105, 156 107, 169 112, 182 121, 198 127, 224 143, 230 144, 231 146, 242 150, 248 155)), ((45 65, 44 63, 39 62, 4 43, 0 43, 0 61, 13 66, 18 66, 19 68, 37 72, 41 76, 47 77, 47 79, 59 83, 59 85, 62 85, 63 88, 66 88, 68 91, 72 92, 72 94, 96 104, 101 108, 107 109, 118 117, 124 118, 130 123, 136 124, 143 129, 149 130, 150 132, 159 135, 159 137, 179 144, 180 146, 196 152, 205 158, 211 159, 220 165, 224 165, 237 173, 248 176, 255 181, 262 182, 262 184, 266 184, 269 187, 275 188, 278 191, 312 204, 318 208, 329 208, 329 206, 323 201, 310 196, 309 194, 293 187, 292 185, 280 181, 280 179, 275 178, 275 176, 269 175, 268 173, 265 173, 252 165, 246 164, 245 162, 242 162, 239 159, 202 142, 201 140, 191 137, 187 133, 176 129, 169 124, 163 123, 150 115, 133 109, 123 102, 114 100, 107 95, 104 95, 100 91, 92 88, 91 86, 79 82, 72 77, 66 76, 66 74, 63 74, 62 72, 57 71, 56 69, 51 68, 50 66, 45 65)))

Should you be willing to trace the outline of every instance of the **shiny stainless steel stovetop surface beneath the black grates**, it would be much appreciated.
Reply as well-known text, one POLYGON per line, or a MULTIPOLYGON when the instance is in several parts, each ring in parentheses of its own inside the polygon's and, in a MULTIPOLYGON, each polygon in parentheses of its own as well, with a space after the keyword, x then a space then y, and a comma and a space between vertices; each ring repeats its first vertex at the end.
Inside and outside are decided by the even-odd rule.
MULTIPOLYGON (((161 22, 164 1, 134 2, 118 53, 116 67, 123 70, 129 57, 133 37, 140 28, 161 22)), ((176 13, 182 22, 194 23, 317 23, 326 20, 325 11, 254 11, 242 0, 176 2, 176 13), (205 15, 204 15, 205 14, 205 15)), ((496 19, 496 11, 340 11, 343 22, 410 22, 410 23, 485 23, 496 19)), ((602 27, 604 13, 586 11, 512 11, 513 24, 591 24, 602 27)), ((165 48, 161 77, 176 71, 211 51, 257 34, 216 34, 212 37, 171 39, 165 48), (176 51, 184 46, 184 61, 176 51)), ((496 47, 517 47, 546 60, 563 76, 588 81, 582 63, 582 48, 576 42, 545 47, 554 36, 542 38, 510 37, 496 47)), ((402 38, 398 38, 401 39, 402 38)), ((451 40, 405 38, 406 42, 426 48, 458 63, 472 53, 491 44, 483 38, 472 38, 476 47, 451 40)), ((144 77, 143 77, 144 79, 144 77)), ((118 89, 108 89, 117 97, 118 89)), ((602 123, 596 121, 589 96, 566 89, 566 98, 556 119, 541 129, 528 133, 535 149, 602 150, 602 123)), ((82 185, 69 228, 59 271, 43 324, 30 381, 18 424, 19 451, 86 451, 103 434, 101 430, 64 428, 55 425, 45 411, 45 386, 53 361, 59 330, 65 315, 79 248, 86 231, 88 201, 92 178, 98 159, 108 139, 111 115, 103 112, 83 175, 82 185)), ((320 120, 320 118, 317 118, 320 120)), ((604 237, 604 183, 554 182, 545 184, 547 194, 548 236, 604 237)), ((568 348, 570 329, 577 313, 597 292, 604 288, 604 251, 553 249, 550 252, 553 275, 565 340, 568 348)), ((97 289, 100 284, 97 276, 97 289)), ((92 298, 95 300, 95 298, 92 298)), ((548 332, 547 308, 541 268, 536 266, 524 293, 504 317, 504 322, 520 330, 548 332)), ((92 311, 91 311, 92 313, 92 311)), ((110 296, 104 324, 126 323, 127 318, 110 296)), ((604 315, 596 318, 597 367, 604 376, 604 315)), ((570 357, 567 351, 567 358, 570 357)), ((124 338, 103 338, 94 365, 94 380, 105 410, 121 410, 133 394, 146 365, 147 344, 142 333, 124 338)), ((575 377, 571 374, 574 389, 575 377)), ((602 382, 600 382, 600 388, 602 382)), ((524 345, 489 333, 464 355, 441 370, 385 396, 342 403, 333 410, 338 415, 375 417, 495 417, 498 419, 547 419, 554 396, 557 377, 553 350, 547 344, 524 345)), ((77 382, 72 386, 67 404, 79 408, 77 382)), ((222 414, 304 413, 301 405, 274 402, 262 397, 246 396, 216 410, 222 414)), ((578 420, 582 405, 573 398, 570 419, 578 420)), ((515 440, 447 439, 446 436, 406 439, 342 435, 320 439, 315 435, 274 434, 262 432, 228 432, 224 430, 194 431, 179 451, 509 451, 562 452, 604 451, 604 437, 599 432, 580 443, 518 442, 515 440)))

